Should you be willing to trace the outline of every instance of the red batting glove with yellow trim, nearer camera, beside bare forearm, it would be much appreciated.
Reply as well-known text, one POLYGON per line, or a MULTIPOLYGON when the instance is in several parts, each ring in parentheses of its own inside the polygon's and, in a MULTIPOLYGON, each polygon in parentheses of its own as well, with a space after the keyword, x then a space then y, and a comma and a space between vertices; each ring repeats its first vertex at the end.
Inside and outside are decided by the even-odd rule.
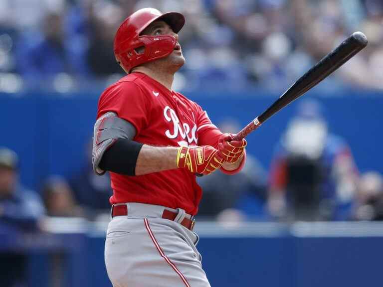
POLYGON ((204 175, 220 168, 223 163, 218 150, 210 145, 181 146, 178 149, 176 160, 178 167, 204 175))

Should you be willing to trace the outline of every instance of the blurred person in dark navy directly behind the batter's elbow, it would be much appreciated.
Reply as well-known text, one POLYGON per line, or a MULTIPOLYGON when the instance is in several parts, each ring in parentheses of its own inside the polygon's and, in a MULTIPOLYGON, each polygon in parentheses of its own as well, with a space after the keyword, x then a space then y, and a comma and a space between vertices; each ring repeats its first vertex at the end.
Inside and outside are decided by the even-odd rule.
POLYGON ((76 202, 87 215, 96 216, 98 213, 109 213, 109 198, 112 196, 109 173, 98 176, 92 167, 92 142, 85 148, 86 162, 83 168, 74 174, 69 185, 73 190, 76 202))

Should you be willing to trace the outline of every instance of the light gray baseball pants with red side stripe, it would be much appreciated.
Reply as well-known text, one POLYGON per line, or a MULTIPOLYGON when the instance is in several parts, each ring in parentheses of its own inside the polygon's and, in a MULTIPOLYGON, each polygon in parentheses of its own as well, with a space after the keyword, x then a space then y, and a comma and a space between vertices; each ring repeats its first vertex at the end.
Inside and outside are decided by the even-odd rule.
POLYGON ((198 236, 178 223, 184 217, 163 219, 163 211, 128 203, 127 216, 112 218, 105 264, 113 287, 210 287, 195 248, 198 236))

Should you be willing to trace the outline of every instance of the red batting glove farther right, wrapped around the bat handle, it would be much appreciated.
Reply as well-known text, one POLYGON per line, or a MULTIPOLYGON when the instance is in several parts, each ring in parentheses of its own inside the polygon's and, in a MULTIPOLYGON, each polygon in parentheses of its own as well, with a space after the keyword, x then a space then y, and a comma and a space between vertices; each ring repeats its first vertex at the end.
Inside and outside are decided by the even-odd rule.
POLYGON ((223 134, 218 139, 218 154, 226 162, 237 161, 243 155, 245 146, 247 145, 245 139, 233 141, 234 136, 233 134, 223 134))

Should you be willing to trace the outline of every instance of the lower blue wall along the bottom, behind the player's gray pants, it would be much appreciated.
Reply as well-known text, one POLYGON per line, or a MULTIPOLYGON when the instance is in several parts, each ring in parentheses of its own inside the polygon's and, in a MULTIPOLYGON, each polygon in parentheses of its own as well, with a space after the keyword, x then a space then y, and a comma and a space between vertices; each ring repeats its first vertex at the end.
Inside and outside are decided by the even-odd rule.
MULTIPOLYGON (((382 286, 382 224, 359 231, 350 225, 336 228, 336 233, 314 232, 303 237, 278 227, 267 234, 259 226, 256 235, 243 234, 244 230, 242 234, 233 230, 229 236, 227 232, 226 236, 202 235, 197 248, 212 287, 382 286)), ((62 254, 61 286, 111 287, 104 263, 105 235, 89 231, 56 236, 64 237, 67 245, 81 241, 72 253, 62 254)), ((52 248, 29 252, 29 287, 53 286, 50 255, 60 252, 52 248)))

